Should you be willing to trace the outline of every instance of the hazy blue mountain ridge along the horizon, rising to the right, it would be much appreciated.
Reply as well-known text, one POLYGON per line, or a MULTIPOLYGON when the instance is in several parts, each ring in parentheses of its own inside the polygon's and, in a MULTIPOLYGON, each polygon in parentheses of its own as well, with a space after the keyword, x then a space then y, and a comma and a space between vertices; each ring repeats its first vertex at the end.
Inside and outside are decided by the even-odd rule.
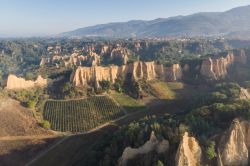
POLYGON ((250 6, 226 12, 196 13, 188 16, 134 20, 90 26, 64 32, 64 37, 167 37, 221 36, 250 31, 250 6))

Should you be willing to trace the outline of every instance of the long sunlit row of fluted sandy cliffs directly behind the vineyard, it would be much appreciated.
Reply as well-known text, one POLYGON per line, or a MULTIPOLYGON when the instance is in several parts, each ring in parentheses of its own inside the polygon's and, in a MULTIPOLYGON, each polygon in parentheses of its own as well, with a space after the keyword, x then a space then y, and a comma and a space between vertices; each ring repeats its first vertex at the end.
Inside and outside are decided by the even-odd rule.
POLYGON ((182 78, 182 69, 178 64, 166 68, 154 62, 137 61, 123 66, 78 67, 73 73, 71 81, 76 86, 86 86, 91 83, 98 84, 102 80, 114 83, 115 79, 125 78, 129 73, 133 80, 160 78, 167 81, 177 81, 182 78))

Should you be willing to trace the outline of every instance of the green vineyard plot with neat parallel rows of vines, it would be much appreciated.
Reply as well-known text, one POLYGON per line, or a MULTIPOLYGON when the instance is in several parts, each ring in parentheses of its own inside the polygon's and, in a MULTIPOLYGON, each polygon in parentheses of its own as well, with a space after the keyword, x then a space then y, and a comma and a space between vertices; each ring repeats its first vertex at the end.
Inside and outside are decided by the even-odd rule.
POLYGON ((123 110, 107 96, 79 100, 48 100, 43 117, 51 129, 84 132, 123 116, 123 110))

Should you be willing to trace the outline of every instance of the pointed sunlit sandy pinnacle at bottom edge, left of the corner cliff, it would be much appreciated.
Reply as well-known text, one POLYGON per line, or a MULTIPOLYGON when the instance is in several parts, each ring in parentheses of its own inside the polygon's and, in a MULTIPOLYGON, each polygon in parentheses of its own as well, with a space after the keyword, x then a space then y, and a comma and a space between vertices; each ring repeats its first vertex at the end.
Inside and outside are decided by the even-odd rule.
POLYGON ((189 137, 185 132, 175 158, 176 166, 197 166, 201 165, 202 151, 194 137, 189 137))

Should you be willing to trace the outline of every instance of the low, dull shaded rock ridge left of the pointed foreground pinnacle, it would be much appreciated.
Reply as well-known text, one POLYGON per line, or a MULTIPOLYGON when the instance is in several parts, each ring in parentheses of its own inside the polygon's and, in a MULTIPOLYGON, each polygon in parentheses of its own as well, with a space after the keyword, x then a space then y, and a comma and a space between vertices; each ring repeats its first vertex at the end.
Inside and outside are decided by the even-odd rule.
POLYGON ((149 141, 139 148, 127 147, 119 159, 119 166, 127 166, 129 160, 135 159, 139 155, 146 155, 152 151, 157 154, 164 153, 169 149, 169 142, 167 140, 158 141, 154 132, 151 133, 149 141))

